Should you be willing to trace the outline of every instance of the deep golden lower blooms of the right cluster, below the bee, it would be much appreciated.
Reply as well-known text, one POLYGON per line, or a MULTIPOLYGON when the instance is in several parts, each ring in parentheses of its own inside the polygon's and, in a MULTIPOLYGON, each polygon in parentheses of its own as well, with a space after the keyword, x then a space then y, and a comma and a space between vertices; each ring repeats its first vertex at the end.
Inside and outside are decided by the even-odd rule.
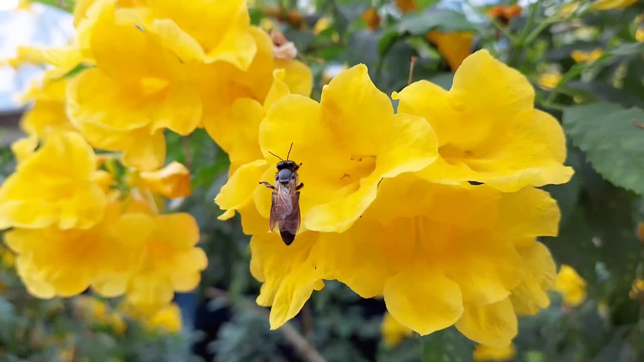
POLYGON ((431 184, 413 174, 385 178, 378 197, 344 233, 275 233, 251 239, 257 302, 270 325, 295 316, 323 279, 363 298, 383 295, 399 323, 421 335, 456 325, 468 338, 505 347, 516 314, 549 305, 554 262, 539 235, 556 234, 559 213, 547 193, 524 188, 431 184), (467 205, 466 209, 462 205, 467 205), (529 213, 517 213, 531 205, 529 213))

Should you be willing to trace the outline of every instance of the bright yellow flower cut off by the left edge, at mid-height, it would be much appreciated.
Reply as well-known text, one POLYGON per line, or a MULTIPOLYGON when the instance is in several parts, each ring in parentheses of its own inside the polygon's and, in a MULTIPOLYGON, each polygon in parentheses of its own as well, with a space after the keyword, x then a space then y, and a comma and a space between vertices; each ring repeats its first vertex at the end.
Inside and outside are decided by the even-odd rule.
POLYGON ((99 222, 106 196, 92 182, 95 155, 81 135, 52 133, 21 158, 0 187, 0 229, 88 229, 99 222))

